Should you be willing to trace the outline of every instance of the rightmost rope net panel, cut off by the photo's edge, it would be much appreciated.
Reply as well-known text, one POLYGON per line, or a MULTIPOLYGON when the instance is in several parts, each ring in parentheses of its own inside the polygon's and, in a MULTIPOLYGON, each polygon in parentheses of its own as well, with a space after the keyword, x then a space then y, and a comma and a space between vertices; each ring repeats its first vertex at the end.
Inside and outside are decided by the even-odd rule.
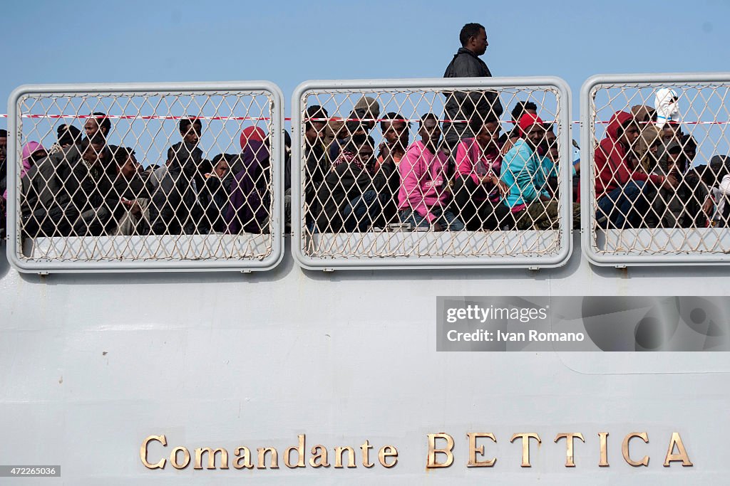
POLYGON ((730 250, 728 83, 602 84, 591 93, 591 245, 602 255, 730 250))

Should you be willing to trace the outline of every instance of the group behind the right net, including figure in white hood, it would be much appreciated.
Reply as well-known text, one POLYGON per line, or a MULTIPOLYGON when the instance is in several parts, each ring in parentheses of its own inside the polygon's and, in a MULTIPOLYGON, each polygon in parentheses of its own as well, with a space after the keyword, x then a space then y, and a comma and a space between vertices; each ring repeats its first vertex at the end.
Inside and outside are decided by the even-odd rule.
POLYGON ((654 107, 612 115, 596 147, 596 219, 601 227, 728 226, 730 157, 696 164, 697 142, 685 134, 674 90, 656 91, 654 107))

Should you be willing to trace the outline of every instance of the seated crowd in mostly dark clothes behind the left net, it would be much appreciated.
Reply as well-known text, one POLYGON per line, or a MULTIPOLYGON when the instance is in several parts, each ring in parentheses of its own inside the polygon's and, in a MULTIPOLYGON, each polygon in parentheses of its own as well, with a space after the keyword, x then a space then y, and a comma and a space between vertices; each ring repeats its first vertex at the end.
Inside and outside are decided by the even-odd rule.
MULTIPOLYGON (((46 150, 23 146, 20 195, 23 235, 191 235, 269 231, 269 138, 249 127, 242 151, 210 160, 199 146, 203 121, 183 117, 181 140, 164 164, 147 168, 134 147, 109 144, 110 117, 85 118, 83 132, 58 127, 46 150)), ((4 197, 7 199, 7 191, 4 197)))

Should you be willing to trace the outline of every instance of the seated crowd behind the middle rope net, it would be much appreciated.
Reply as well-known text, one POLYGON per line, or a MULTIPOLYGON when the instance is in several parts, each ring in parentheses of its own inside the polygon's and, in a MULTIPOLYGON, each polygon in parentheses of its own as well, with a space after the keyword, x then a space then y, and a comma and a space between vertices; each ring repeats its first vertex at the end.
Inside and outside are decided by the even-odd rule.
MULTIPOLYGON (((483 98, 488 93, 480 92, 483 98)), ((453 96, 453 94, 449 94, 453 96)), ((499 98, 494 98, 499 100, 499 98)), ((537 106, 518 102, 515 129, 478 111, 410 121, 395 112, 380 118, 377 100, 362 97, 343 122, 310 106, 304 157, 307 227, 314 232, 398 230, 529 230, 558 226, 558 144, 537 106), (383 142, 371 135, 380 119, 383 142), (443 133, 457 133, 450 143, 443 133), (468 133, 468 136, 464 136, 468 133)), ((463 111, 463 110, 461 110, 463 111)), ((577 175, 575 167, 572 171, 577 175)), ((575 224, 579 209, 575 206, 575 224)))

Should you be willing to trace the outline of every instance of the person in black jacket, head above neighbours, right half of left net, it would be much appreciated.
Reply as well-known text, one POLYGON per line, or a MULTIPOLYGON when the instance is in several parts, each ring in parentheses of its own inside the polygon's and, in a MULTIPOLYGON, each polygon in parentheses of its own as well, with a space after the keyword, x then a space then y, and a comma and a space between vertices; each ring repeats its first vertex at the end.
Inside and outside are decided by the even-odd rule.
POLYGON ((150 231, 154 235, 191 235, 201 229, 203 210, 198 200, 197 177, 203 161, 198 144, 202 133, 199 118, 180 119, 180 136, 168 151, 164 174, 150 204, 150 231))

